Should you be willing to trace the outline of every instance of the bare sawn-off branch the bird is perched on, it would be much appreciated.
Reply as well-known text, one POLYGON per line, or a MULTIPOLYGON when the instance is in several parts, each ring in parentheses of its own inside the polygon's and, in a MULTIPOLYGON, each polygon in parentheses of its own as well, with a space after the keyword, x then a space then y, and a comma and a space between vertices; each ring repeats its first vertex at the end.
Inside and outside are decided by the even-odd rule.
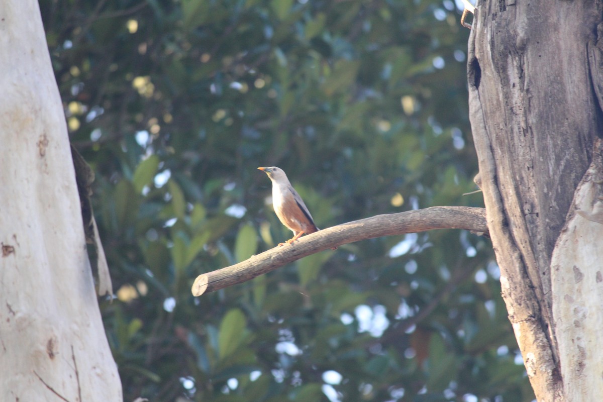
POLYGON ((326 228, 296 240, 292 245, 275 247, 238 264, 201 274, 192 286, 194 296, 218 291, 274 271, 318 251, 342 244, 432 229, 466 229, 487 233, 484 208, 431 207, 414 211, 377 215, 326 228))

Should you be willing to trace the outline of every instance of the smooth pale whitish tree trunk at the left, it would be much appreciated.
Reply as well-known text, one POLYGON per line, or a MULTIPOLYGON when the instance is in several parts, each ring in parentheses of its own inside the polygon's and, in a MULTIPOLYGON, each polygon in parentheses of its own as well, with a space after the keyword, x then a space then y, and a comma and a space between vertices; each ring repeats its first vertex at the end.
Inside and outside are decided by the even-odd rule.
POLYGON ((37 2, 0 8, 0 400, 121 401, 37 2))

